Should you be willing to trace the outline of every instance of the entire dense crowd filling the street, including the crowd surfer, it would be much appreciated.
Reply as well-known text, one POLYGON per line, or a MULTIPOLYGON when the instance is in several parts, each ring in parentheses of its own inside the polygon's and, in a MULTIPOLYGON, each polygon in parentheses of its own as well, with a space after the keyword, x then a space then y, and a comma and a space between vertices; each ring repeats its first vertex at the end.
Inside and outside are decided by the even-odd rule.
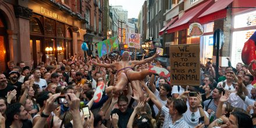
POLYGON ((229 58, 228 67, 207 62, 201 86, 171 86, 171 67, 158 55, 9 61, 0 73, 0 127, 256 126, 256 60, 236 67, 229 58))

